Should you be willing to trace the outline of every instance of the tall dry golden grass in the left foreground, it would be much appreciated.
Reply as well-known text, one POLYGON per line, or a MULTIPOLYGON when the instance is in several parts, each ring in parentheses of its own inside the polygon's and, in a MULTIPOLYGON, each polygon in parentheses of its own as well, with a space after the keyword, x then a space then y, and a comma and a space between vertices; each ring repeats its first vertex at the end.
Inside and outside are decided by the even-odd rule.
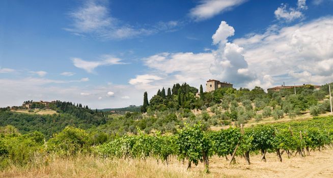
POLYGON ((16 167, 0 172, 0 177, 211 177, 203 172, 187 171, 186 166, 166 166, 155 159, 103 159, 81 155, 54 157, 46 164, 16 167))

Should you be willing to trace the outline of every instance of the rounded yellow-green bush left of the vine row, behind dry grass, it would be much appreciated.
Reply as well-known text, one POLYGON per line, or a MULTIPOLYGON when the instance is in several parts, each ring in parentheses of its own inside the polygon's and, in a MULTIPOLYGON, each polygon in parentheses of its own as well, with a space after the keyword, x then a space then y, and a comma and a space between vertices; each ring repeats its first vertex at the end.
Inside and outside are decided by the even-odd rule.
POLYGON ((47 142, 47 150, 61 156, 73 156, 80 152, 89 152, 92 144, 85 130, 66 127, 47 142))

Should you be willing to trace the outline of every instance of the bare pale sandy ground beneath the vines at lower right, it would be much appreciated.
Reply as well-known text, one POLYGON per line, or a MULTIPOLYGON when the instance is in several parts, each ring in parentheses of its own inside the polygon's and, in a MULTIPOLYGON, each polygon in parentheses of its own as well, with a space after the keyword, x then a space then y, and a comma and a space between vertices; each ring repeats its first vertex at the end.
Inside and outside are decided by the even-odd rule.
MULTIPOLYGON (((237 163, 231 166, 226 158, 212 157, 209 167, 212 177, 333 177, 332 149, 311 152, 310 156, 304 158, 294 155, 288 159, 287 155, 283 154, 282 163, 273 153, 266 154, 267 162, 260 161, 260 155, 251 155, 251 165, 247 165, 244 158, 237 157, 237 163)), ((202 171, 203 168, 199 163, 192 170, 202 171)))

